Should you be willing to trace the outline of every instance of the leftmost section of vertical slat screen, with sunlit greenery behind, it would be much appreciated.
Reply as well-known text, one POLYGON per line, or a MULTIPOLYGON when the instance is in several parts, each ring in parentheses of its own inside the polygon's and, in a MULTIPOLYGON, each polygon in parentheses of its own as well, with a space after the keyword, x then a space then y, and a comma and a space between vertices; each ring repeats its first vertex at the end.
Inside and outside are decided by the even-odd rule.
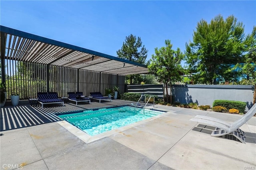
POLYGON ((46 91, 46 65, 6 59, 7 99, 13 94, 20 99, 37 97, 37 92, 46 91))

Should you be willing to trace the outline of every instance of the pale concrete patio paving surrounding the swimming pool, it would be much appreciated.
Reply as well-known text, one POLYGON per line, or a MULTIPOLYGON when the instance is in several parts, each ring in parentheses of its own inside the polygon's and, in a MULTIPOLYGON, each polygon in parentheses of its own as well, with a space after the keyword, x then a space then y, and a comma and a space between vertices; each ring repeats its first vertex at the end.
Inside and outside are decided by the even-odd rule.
MULTIPOLYGON (((62 109, 76 111, 92 107, 127 105, 130 102, 113 102, 91 105, 65 103, 62 109)), ((153 107, 153 106, 150 106, 153 107)), ((98 140, 85 142, 83 135, 75 135, 54 117, 61 112, 59 106, 41 109, 29 105, 14 107, 8 120, 34 114, 34 125, 16 123, 3 125, 0 136, 1 169, 69 170, 69 169, 255 169, 256 168, 256 117, 241 127, 247 132, 246 144, 236 140, 212 137, 194 129, 198 123, 189 121, 195 115, 207 115, 228 122, 242 115, 216 113, 155 105, 168 111, 160 116, 106 132, 98 140), (46 113, 47 111, 47 113, 46 113), (41 115, 41 116, 40 116, 41 115), (38 119, 36 118, 38 117, 38 119), (46 119, 48 118, 48 119, 46 119), (40 121, 40 120, 42 121, 40 121), (12 129, 14 128, 14 129, 12 129), (8 130, 12 129, 12 130, 8 130), (250 137, 249 137, 250 136, 250 137)), ((13 107, 1 108, 1 119, 13 107)), ((6 124, 6 120, 3 121, 6 124)), ((29 120, 27 122, 30 122, 29 120)), ((85 133, 84 133, 85 134, 85 133)))

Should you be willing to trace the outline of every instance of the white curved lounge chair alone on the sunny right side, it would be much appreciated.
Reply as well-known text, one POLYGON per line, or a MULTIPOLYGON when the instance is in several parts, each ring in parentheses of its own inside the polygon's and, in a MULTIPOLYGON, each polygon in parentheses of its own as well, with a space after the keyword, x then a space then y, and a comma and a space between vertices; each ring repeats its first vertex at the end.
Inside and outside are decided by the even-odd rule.
POLYGON ((190 119, 190 121, 196 121, 216 127, 215 130, 212 131, 211 136, 223 136, 226 134, 232 134, 233 136, 238 138, 242 143, 245 144, 245 132, 242 131, 239 127, 244 125, 255 114, 256 104, 254 104, 252 108, 241 119, 238 119, 237 121, 231 124, 220 119, 200 115, 197 115, 196 117, 190 119))

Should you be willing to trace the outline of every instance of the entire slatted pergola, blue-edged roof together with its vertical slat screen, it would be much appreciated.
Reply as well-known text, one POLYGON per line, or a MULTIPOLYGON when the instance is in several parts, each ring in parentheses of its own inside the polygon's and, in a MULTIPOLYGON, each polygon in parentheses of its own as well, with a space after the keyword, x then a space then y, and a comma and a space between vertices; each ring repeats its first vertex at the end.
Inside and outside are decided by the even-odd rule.
POLYGON ((101 92, 118 85, 124 93, 124 76, 148 73, 146 65, 104 53, 0 26, 2 82, 7 99, 36 98, 37 92, 101 92))

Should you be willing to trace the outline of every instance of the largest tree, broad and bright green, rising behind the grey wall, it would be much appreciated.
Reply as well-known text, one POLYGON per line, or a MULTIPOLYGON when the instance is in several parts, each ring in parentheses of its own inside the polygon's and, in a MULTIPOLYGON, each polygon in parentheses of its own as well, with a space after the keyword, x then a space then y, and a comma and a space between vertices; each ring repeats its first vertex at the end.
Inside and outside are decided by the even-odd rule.
POLYGON ((232 15, 216 16, 208 24, 197 23, 193 42, 186 43, 186 62, 196 70, 198 83, 215 84, 217 77, 228 77, 231 66, 242 61, 244 26, 232 15))

